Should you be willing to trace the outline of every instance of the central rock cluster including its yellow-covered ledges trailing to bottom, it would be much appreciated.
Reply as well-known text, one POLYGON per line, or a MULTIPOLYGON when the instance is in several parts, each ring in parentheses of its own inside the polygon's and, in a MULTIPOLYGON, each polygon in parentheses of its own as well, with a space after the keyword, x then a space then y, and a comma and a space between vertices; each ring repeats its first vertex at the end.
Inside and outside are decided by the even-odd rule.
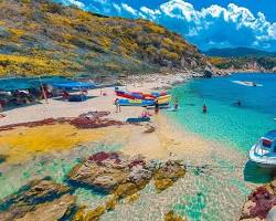
POLYGON ((78 210, 73 220, 98 220, 106 211, 114 210, 120 199, 125 202, 137 200, 139 191, 150 182, 152 177, 157 189, 164 190, 184 173, 185 169, 178 161, 161 164, 157 160, 148 161, 141 156, 97 152, 75 166, 68 173, 68 179, 112 196, 105 206, 99 206, 95 210, 78 210))

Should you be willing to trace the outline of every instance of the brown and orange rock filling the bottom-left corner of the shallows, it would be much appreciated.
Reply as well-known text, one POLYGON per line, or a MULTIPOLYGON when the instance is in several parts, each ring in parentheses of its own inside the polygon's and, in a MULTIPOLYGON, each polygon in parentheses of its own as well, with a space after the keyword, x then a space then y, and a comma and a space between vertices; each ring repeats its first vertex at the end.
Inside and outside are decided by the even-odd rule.
MULTIPOLYGON (((45 208, 52 208, 49 212, 50 217, 60 219, 73 208, 75 198, 68 192, 68 187, 55 183, 49 178, 31 181, 17 193, 2 200, 0 203, 0 220, 12 221, 25 217, 32 220, 42 211, 46 212, 45 208)), ((46 214, 42 215, 41 219, 43 217, 45 218, 46 214)), ((38 218, 36 220, 41 219, 38 218)))

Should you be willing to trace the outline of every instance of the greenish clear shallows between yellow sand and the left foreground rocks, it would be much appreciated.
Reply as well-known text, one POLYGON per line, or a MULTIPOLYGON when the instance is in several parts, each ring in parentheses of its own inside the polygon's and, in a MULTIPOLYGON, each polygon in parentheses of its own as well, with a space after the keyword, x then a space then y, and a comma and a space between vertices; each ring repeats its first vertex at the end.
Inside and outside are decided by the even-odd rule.
MULTIPOLYGON (((38 178, 50 176, 53 180, 60 183, 65 183, 67 173, 72 168, 97 151, 117 151, 120 149, 120 145, 106 145, 94 144, 87 146, 79 146, 68 151, 54 155, 45 155, 43 157, 31 160, 28 164, 13 165, 2 170, 0 176, 0 200, 4 197, 17 192, 22 186, 29 181, 38 178)), ((78 188, 75 192, 77 196, 77 202, 79 204, 95 203, 96 200, 103 198, 103 196, 85 188, 78 188)))

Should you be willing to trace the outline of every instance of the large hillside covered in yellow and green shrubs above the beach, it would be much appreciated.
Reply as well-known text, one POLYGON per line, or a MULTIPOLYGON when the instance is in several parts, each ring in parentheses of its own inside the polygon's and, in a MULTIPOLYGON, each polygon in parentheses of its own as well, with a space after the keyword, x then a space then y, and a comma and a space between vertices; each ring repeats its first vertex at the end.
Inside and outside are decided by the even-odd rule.
POLYGON ((0 0, 0 76, 204 70, 182 36, 49 0, 0 0))

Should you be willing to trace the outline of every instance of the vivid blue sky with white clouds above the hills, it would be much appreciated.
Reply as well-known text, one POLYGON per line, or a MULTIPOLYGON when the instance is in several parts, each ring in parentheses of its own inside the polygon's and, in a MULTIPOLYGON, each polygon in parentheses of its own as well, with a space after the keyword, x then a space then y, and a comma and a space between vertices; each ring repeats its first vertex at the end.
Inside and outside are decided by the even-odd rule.
POLYGON ((180 33, 200 50, 276 51, 276 0, 56 0, 106 15, 142 18, 180 33))

